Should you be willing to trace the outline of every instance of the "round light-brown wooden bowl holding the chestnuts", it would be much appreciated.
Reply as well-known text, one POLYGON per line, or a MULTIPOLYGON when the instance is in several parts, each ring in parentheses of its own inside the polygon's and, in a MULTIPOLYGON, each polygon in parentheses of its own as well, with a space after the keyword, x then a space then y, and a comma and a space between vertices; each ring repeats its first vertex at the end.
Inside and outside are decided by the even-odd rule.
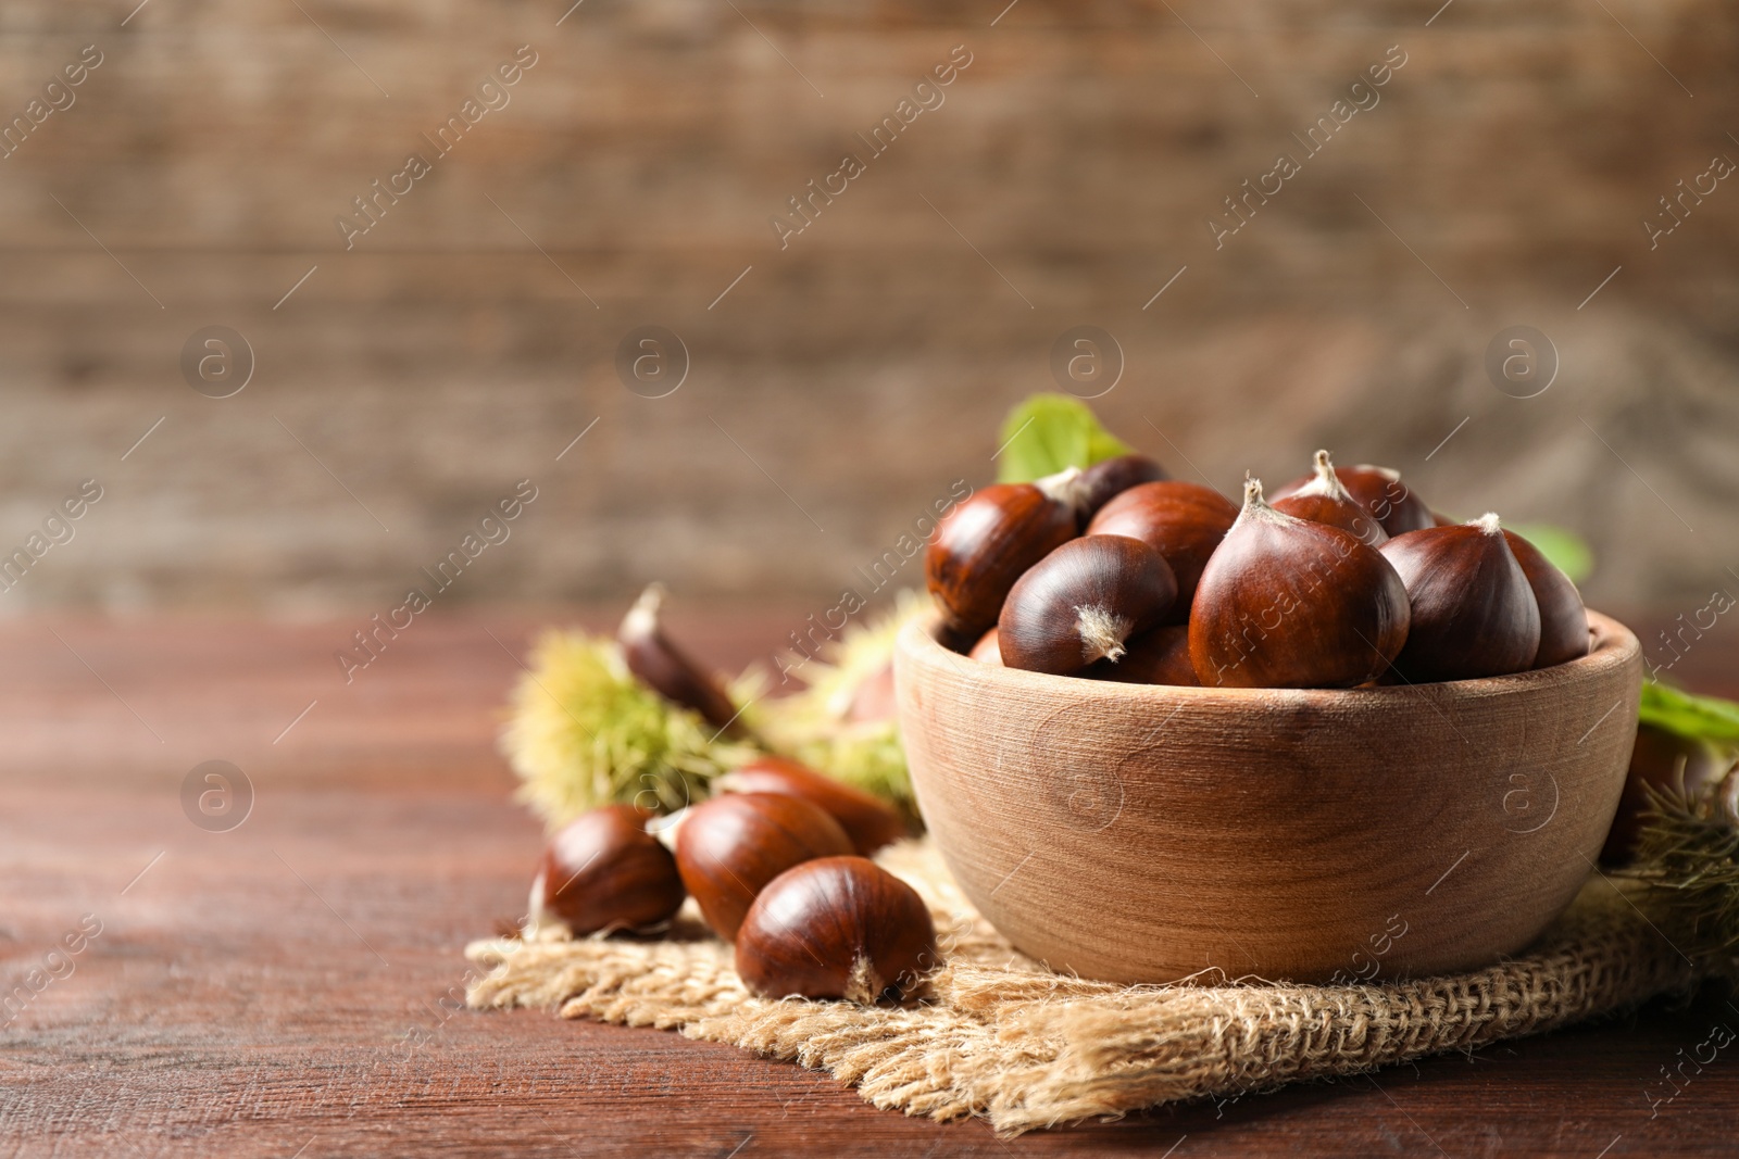
POLYGON ((1642 648, 1360 690, 1047 676, 899 636, 923 820, 974 905, 1108 982, 1485 966, 1576 897, 1617 810, 1642 648))

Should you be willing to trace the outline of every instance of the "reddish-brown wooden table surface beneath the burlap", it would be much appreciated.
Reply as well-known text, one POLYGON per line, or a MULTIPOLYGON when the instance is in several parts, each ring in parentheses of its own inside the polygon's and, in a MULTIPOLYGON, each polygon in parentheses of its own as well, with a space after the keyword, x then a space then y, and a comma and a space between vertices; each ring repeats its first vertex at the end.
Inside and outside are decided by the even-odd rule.
MULTIPOLYGON (((800 620, 676 629, 741 664, 800 620)), ((464 942, 522 912, 539 846, 494 749, 534 622, 417 620, 348 686, 332 652, 360 624, 0 626, 0 952, 31 994, 0 1030, 0 1156, 1734 1154, 1739 1058, 1687 1065, 1654 1116, 1645 1098, 1739 1027, 1725 992, 1016 1140, 675 1034, 454 1011, 464 942), (228 832, 183 811, 207 759, 254 789, 228 832), (85 914, 101 933, 31 992, 85 914)))

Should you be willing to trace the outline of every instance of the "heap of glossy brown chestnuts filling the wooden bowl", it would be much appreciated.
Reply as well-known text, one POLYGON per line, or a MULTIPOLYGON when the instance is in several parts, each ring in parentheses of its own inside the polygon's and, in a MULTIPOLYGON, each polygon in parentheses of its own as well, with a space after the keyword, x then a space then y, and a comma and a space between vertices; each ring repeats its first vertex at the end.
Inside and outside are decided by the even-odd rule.
POLYGON ((1443 520, 1388 467, 1242 504, 1144 455, 998 483, 943 520, 925 579, 972 659, 1209 688, 1504 676, 1588 653, 1576 584, 1496 514, 1443 520))

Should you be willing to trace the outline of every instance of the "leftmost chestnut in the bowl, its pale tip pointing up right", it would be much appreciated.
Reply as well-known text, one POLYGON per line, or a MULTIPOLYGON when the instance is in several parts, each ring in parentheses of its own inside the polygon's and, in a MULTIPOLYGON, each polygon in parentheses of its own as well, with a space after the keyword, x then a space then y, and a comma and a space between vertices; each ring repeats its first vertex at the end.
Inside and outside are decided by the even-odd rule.
POLYGON ((995 483, 943 518, 923 579, 948 627, 977 639, 1026 568, 1075 539, 1078 485, 1073 467, 1036 483, 995 483))

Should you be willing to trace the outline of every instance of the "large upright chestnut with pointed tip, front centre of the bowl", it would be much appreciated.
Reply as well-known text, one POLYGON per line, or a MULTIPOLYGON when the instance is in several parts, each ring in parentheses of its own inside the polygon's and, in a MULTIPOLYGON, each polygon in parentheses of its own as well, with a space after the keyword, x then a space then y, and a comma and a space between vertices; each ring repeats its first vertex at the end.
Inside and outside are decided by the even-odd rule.
POLYGON ((1209 688, 1351 688, 1400 653, 1407 622, 1407 589, 1377 549, 1275 511, 1245 480, 1189 608, 1189 662, 1209 688))

